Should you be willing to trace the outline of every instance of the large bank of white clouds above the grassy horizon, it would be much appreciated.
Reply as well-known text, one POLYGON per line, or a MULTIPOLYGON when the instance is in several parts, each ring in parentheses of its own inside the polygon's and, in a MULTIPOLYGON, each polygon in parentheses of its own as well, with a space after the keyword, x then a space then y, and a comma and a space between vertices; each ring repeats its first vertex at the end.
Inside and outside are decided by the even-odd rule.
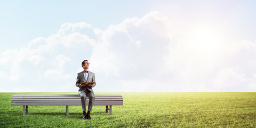
POLYGON ((255 42, 229 42, 211 26, 181 33, 171 22, 153 11, 106 30, 64 23, 57 34, 1 54, 1 89, 10 91, 3 85, 12 81, 25 86, 19 91, 75 92, 87 59, 96 92, 256 91, 255 42))

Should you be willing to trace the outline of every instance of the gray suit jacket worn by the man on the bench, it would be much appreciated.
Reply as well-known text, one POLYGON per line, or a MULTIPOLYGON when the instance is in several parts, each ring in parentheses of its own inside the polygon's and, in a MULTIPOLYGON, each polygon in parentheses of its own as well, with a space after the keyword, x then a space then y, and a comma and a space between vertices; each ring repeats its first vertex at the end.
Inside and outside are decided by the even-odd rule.
POLYGON ((76 78, 76 86, 79 87, 78 94, 84 92, 85 90, 90 90, 93 93, 92 87, 94 87, 96 85, 96 83, 92 84, 91 87, 90 86, 82 86, 81 81, 95 82, 94 73, 92 73, 91 71, 88 71, 87 81, 85 81, 85 78, 84 78, 84 71, 81 71, 80 73, 78 73, 77 78, 76 78))

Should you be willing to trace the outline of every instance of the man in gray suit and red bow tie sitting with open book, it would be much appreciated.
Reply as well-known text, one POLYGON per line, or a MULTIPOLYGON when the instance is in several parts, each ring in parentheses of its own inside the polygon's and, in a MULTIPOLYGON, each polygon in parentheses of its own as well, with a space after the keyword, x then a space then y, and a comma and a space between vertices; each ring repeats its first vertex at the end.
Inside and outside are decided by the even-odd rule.
POLYGON ((95 82, 94 73, 88 71, 90 63, 87 60, 82 62, 83 71, 77 74, 76 78, 76 86, 79 87, 78 95, 81 97, 82 108, 83 108, 83 119, 91 119, 90 111, 92 111, 92 106, 94 102, 94 93, 92 87, 96 85, 94 84, 84 84, 81 82, 95 82), (88 111, 86 114, 86 97, 89 98, 88 111))

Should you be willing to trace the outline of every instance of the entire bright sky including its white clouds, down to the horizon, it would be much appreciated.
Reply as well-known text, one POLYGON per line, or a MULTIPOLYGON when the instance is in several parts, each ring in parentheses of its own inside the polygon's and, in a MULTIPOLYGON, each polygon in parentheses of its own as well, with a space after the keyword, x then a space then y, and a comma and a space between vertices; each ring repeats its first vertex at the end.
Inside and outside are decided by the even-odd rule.
POLYGON ((255 1, 1 1, 1 92, 256 91, 255 1), (11 87, 12 86, 12 87, 11 87))

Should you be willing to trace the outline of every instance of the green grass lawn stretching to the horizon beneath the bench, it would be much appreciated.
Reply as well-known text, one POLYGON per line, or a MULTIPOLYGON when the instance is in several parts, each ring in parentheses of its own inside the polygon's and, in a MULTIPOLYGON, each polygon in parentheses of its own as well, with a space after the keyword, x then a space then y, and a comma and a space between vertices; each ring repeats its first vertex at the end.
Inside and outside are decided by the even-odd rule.
MULTIPOLYGON (((256 92, 120 92, 124 105, 93 106, 84 120, 81 106, 11 106, 13 94, 0 93, 0 127, 256 127, 256 92)), ((87 108, 87 106, 86 106, 87 108)))

